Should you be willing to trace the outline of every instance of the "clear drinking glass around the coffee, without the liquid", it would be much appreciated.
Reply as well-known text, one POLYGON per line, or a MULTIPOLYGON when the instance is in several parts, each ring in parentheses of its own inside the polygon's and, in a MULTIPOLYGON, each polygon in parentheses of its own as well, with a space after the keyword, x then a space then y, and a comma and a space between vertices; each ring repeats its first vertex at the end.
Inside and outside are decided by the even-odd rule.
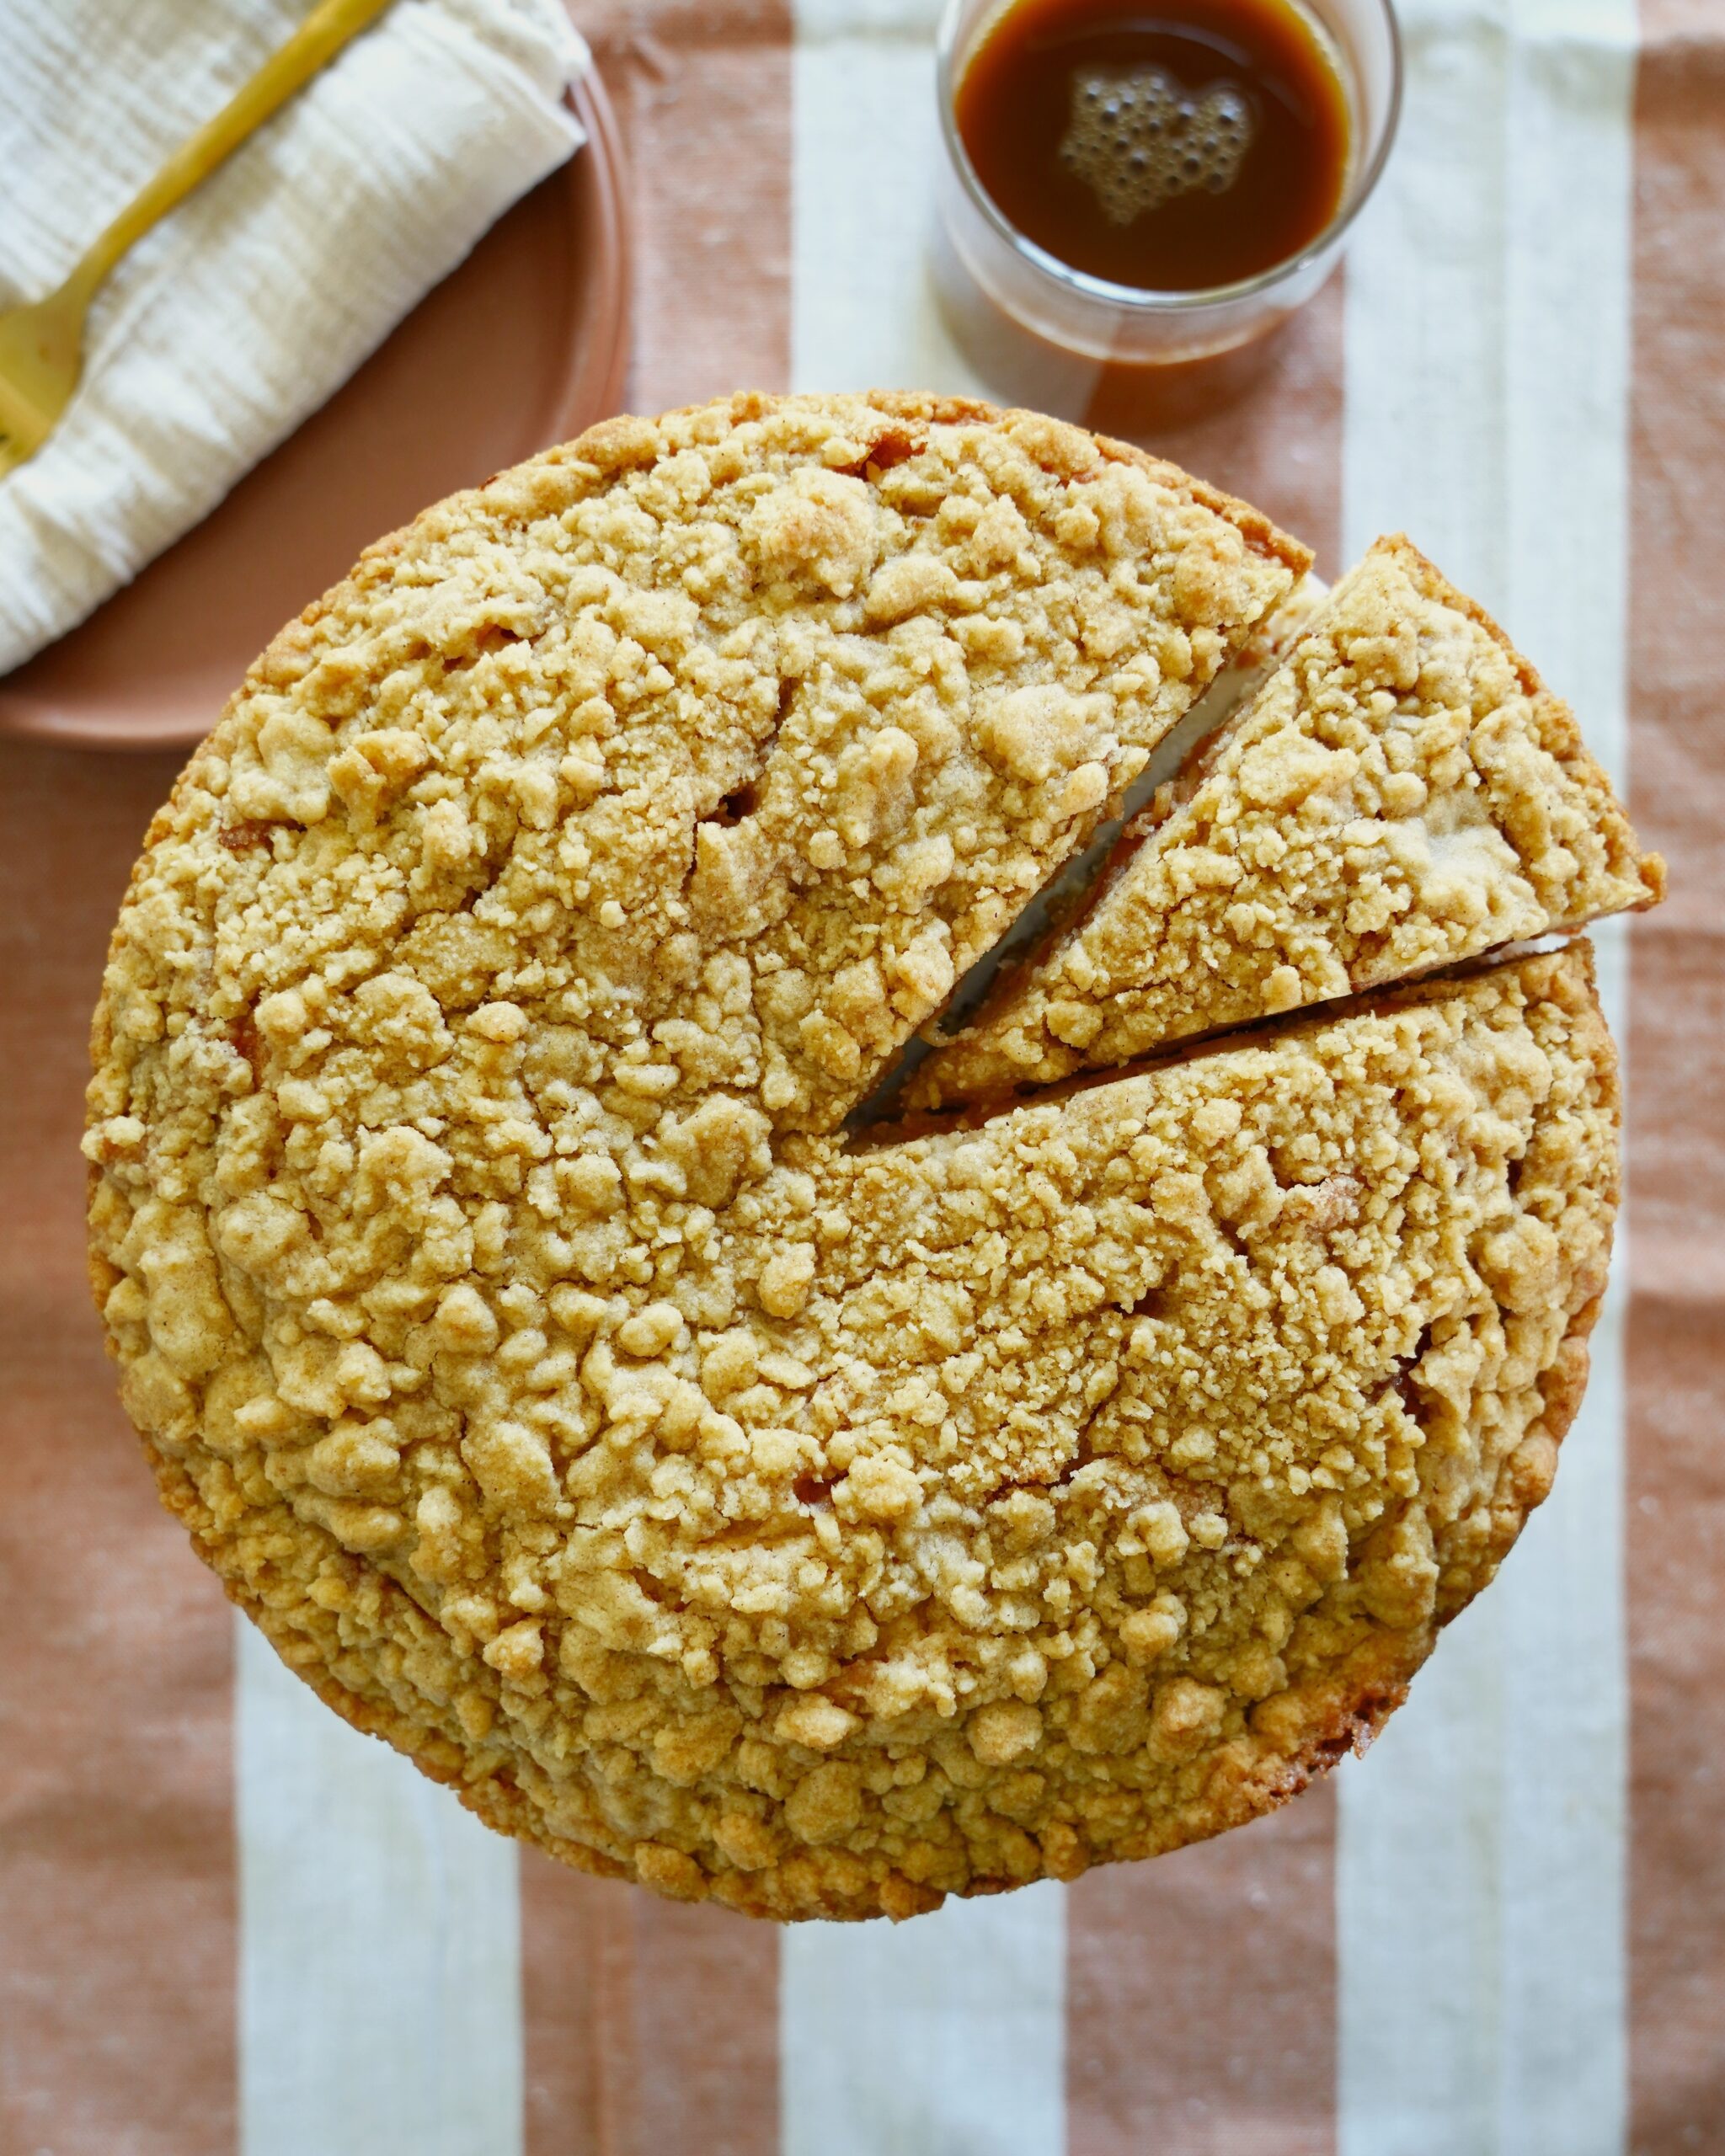
POLYGON ((932 267, 942 308, 985 375, 1005 373, 1013 392, 1041 388, 1044 401, 1072 403, 1098 362, 1149 369, 1210 360, 1274 330, 1313 298, 1389 157, 1402 110, 1402 39, 1391 0, 1292 4, 1317 26, 1348 95, 1352 155, 1335 218, 1298 254, 1238 285, 1141 291, 1072 270, 1026 239, 983 190, 953 99, 970 56, 1011 0, 949 0, 936 45, 942 155, 932 267), (1013 338, 1013 330, 1022 334, 1013 338))

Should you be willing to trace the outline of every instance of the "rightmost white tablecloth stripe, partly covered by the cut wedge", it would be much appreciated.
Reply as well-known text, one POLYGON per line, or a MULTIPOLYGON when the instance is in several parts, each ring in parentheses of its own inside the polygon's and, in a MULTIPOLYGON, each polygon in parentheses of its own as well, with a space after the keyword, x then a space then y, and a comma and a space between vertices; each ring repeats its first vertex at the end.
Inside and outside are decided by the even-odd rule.
MULTIPOLYGON (((1404 138, 1348 265, 1346 548, 1406 526, 1622 783, 1634 0, 1402 15, 1404 138)), ((1600 962, 1622 1041, 1622 929, 1600 962)), ((1341 2156, 1624 2147, 1622 1445, 1613 1291, 1552 1498, 1341 1774, 1341 2156)))

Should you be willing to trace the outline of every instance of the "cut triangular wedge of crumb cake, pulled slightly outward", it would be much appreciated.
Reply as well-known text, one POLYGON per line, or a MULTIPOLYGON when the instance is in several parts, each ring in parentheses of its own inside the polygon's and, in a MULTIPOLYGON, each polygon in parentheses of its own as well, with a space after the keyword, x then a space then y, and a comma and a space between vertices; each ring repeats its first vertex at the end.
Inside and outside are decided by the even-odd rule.
POLYGON ((1662 890, 1570 709, 1406 539, 1380 539, 906 1100, 1115 1067, 1662 890))

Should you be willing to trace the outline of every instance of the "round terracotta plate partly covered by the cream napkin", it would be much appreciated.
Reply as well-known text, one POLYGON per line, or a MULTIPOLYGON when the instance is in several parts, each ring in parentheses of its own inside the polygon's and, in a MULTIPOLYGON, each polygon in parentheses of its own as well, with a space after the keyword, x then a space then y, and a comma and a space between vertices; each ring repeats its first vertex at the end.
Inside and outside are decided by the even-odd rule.
POLYGON ((619 407, 632 285, 623 151, 595 73, 571 103, 586 147, 196 530, 0 679, 0 735, 190 746, 276 630, 364 545, 619 407))

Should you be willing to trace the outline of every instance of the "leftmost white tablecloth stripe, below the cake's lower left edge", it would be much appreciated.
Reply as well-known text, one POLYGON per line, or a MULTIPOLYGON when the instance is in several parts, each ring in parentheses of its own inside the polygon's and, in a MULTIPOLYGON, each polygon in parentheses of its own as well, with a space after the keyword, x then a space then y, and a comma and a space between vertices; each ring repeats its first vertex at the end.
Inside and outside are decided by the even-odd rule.
POLYGON ((242 2156, 520 2156, 515 1846, 239 1619, 242 2156))

